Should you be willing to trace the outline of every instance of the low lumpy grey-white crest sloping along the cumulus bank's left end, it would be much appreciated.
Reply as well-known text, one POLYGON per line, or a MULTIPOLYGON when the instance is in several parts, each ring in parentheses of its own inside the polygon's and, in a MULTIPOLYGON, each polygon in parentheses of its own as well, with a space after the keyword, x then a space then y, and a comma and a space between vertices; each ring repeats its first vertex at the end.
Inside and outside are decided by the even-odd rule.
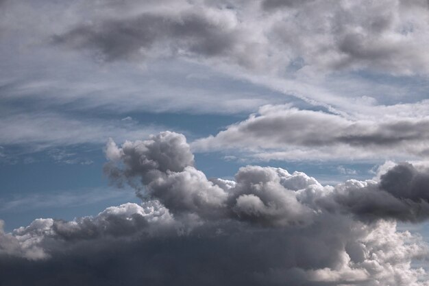
POLYGON ((145 206, 132 203, 111 206, 96 217, 79 217, 71 222, 35 219, 29 226, 16 228, 13 235, 3 234, 9 241, 5 241, 3 251, 27 259, 45 259, 50 257, 49 252, 61 250, 58 248, 61 244, 67 247, 66 241, 95 240, 99 237, 130 239, 141 231, 156 231, 158 224, 168 225, 171 219, 169 211, 158 202, 148 202, 145 206), (152 223, 151 230, 146 228, 149 223, 152 223))

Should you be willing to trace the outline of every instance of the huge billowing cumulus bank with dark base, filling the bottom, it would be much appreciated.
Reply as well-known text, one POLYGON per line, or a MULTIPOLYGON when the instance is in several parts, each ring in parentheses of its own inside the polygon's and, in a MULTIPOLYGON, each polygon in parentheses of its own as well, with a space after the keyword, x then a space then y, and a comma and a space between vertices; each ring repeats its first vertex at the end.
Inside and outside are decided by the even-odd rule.
POLYGON ((136 187, 141 206, 0 232, 1 283, 428 285, 411 266, 426 243, 395 222, 428 216, 427 169, 403 163, 380 182, 334 187, 258 166, 208 180, 174 132, 109 141, 106 155, 107 174, 136 187))

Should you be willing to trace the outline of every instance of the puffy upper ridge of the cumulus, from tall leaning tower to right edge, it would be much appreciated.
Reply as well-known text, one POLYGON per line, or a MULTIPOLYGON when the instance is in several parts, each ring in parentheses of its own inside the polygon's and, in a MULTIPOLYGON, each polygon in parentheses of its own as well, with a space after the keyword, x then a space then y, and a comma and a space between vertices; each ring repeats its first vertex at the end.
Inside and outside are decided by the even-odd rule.
POLYGON ((141 187, 137 189, 145 189, 145 195, 160 200, 173 214, 229 217, 262 226, 305 226, 314 221, 317 211, 323 210, 356 215, 365 221, 382 218, 418 222, 429 215, 428 171, 419 171, 408 163, 389 169, 380 182, 349 180, 330 191, 304 173, 289 174, 271 167, 242 167, 234 181, 208 180, 193 167, 193 156, 183 135, 164 132, 143 142, 117 147, 110 141, 106 154, 116 163, 106 165, 107 174, 114 174, 110 175, 113 180, 131 181, 134 186, 132 179, 140 179, 141 187), (160 164, 145 145, 154 150, 160 149, 158 145, 165 146, 166 153, 180 150, 184 158, 174 165, 181 167, 177 171, 147 169, 147 162, 160 164))

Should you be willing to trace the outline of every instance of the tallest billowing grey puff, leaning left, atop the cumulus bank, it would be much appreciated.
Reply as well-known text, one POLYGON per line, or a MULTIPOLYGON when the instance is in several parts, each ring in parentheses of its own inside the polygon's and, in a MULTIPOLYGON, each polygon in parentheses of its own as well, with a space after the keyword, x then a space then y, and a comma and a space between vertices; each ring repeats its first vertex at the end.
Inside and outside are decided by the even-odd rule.
POLYGON ((210 212, 223 205, 225 191, 193 167, 194 156, 182 134, 162 132, 148 141, 126 142, 120 149, 110 141, 106 155, 112 161, 104 171, 112 180, 126 180, 139 189, 133 179, 140 178, 141 187, 171 211, 210 212))

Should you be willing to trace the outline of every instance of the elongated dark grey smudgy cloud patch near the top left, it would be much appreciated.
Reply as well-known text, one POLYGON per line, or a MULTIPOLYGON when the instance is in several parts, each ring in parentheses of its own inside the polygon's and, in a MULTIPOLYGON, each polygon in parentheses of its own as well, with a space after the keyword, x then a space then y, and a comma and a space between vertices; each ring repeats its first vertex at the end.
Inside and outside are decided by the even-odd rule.
POLYGON ((108 61, 145 58, 150 53, 193 53, 227 56, 241 40, 228 23, 210 19, 204 10, 179 14, 144 13, 131 19, 107 19, 79 25, 53 37, 53 42, 73 48, 95 49, 108 61))

